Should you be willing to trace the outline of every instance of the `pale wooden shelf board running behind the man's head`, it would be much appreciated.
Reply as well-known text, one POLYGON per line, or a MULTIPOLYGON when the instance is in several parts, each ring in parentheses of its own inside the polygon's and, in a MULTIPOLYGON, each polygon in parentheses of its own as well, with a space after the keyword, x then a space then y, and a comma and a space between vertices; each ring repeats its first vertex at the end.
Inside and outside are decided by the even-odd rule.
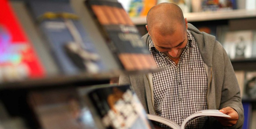
MULTIPOLYGON (((206 11, 184 13, 188 22, 210 21, 223 19, 241 19, 256 17, 256 10, 227 10, 227 11, 206 11)), ((146 25, 146 17, 131 18, 135 25, 146 25)))

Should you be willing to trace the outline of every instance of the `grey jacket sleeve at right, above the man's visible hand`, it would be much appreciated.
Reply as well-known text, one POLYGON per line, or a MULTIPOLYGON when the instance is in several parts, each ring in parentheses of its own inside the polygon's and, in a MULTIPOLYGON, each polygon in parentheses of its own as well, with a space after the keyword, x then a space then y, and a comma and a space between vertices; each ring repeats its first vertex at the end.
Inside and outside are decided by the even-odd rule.
POLYGON ((223 49, 224 57, 224 79, 221 89, 220 109, 231 107, 238 113, 238 121, 236 125, 229 127, 230 129, 242 128, 244 123, 244 108, 242 105, 240 88, 236 79, 236 75, 231 61, 223 49))

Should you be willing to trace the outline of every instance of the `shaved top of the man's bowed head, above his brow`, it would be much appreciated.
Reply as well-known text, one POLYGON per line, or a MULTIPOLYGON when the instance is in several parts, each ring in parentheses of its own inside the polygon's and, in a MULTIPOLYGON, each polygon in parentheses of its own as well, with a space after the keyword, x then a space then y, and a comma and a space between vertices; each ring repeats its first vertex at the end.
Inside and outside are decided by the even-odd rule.
POLYGON ((172 34, 177 27, 184 27, 186 24, 183 12, 180 7, 172 3, 160 3, 153 6, 147 15, 148 31, 152 30, 162 35, 172 34))

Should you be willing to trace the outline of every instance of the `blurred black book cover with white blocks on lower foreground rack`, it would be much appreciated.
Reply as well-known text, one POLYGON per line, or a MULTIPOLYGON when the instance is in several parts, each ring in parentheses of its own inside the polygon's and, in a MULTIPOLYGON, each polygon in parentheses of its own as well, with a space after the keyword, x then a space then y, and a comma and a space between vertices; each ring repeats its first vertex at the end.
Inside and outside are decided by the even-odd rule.
POLYGON ((152 128, 142 104, 129 85, 102 85, 78 91, 81 97, 92 102, 105 128, 152 128))

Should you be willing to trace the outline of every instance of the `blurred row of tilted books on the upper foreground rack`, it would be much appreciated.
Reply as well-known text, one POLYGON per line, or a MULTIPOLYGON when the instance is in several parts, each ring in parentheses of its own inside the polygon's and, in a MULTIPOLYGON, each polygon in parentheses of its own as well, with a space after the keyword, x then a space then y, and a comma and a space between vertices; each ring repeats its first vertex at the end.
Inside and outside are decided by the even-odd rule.
POLYGON ((118 2, 0 2, 0 83, 50 74, 157 69, 118 2))

